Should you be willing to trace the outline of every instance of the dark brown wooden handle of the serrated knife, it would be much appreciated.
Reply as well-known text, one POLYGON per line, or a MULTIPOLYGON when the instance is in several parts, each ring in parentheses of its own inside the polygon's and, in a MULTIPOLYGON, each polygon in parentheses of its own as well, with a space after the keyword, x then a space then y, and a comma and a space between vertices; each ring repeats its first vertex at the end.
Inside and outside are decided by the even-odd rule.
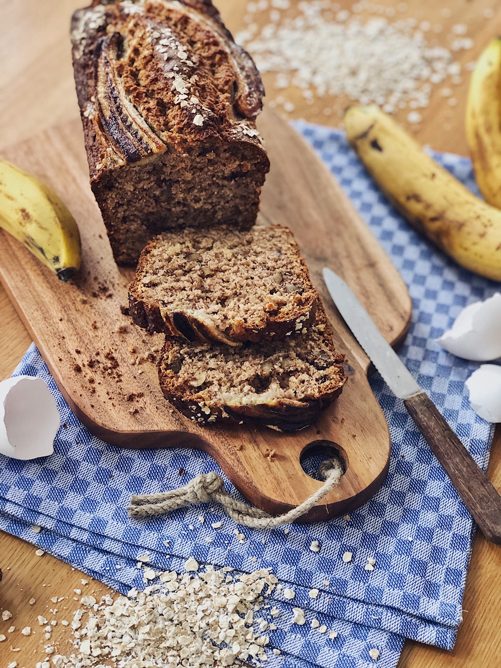
POLYGON ((484 536, 501 544, 501 496, 496 488, 427 394, 420 392, 403 403, 484 536))

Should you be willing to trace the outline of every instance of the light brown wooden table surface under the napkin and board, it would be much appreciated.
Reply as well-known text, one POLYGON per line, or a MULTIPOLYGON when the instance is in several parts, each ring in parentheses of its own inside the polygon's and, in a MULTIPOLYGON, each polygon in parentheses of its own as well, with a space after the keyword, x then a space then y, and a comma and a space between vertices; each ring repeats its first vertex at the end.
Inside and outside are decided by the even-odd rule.
MULTIPOLYGON (((0 3, 0 150, 43 128, 78 116, 68 27, 71 12, 82 4, 82 0, 3 0, 0 3)), ((244 27, 245 0, 219 0, 217 4, 230 30, 236 32, 244 27)), ((396 0, 378 2, 379 7, 400 5, 400 10, 403 9, 401 4, 396 0)), ((442 45, 448 45, 452 25, 468 25, 468 36, 474 39, 474 47, 457 55, 462 64, 476 59, 489 39, 501 33, 501 3, 496 0, 407 0, 406 4, 406 11, 397 12, 397 17, 440 24, 442 31, 430 33, 430 39, 442 45), (486 18, 485 11, 490 9, 494 10, 493 17, 486 18)), ((351 3, 340 0, 338 8, 333 9, 339 9, 339 5, 346 9, 351 7, 351 3)), ((422 123, 407 125, 418 141, 436 150, 468 154, 464 133, 468 79, 465 71, 462 82, 454 86, 455 106, 440 95, 440 86, 435 87, 430 106, 420 110, 422 123)), ((265 77, 267 100, 275 100, 280 94, 293 102, 295 110, 289 118, 302 117, 312 122, 339 125, 339 112, 346 104, 345 99, 323 98, 307 105, 297 90, 277 91, 273 81, 273 75, 265 77)), ((406 114, 397 115, 404 124, 406 114)), ((0 286, 0 379, 11 374, 29 343, 27 331, 0 286)), ((494 437, 488 476, 501 488, 499 428, 494 437)), ((0 566, 4 575, 0 585, 0 609, 13 613, 12 619, 0 620, 0 634, 7 635, 7 640, 0 644, 0 668, 11 661, 17 661, 19 668, 31 668, 45 656, 42 647, 47 641, 36 617, 43 615, 49 621, 71 621, 71 611, 77 606, 73 589, 94 593, 96 597, 108 591, 106 585, 72 570, 48 554, 36 556, 32 545, 4 533, 0 533, 0 566), (87 585, 81 584, 82 578, 88 580, 87 585), (58 613, 50 612, 55 607, 50 601, 54 596, 65 597, 57 603, 58 613), (30 605, 32 598, 35 603, 30 605), (15 631, 8 633, 11 625, 15 626, 15 631), (35 635, 20 634, 27 625, 33 627, 35 635), (20 650, 14 652, 18 647, 20 650)), ((407 641, 399 668, 478 668, 480 663, 482 668, 498 668, 501 663, 500 572, 501 546, 489 544, 478 534, 466 582, 464 621, 456 647, 448 652, 407 641)), ((68 637, 69 633, 63 633, 59 623, 51 643, 61 639, 59 651, 65 653, 68 637)))

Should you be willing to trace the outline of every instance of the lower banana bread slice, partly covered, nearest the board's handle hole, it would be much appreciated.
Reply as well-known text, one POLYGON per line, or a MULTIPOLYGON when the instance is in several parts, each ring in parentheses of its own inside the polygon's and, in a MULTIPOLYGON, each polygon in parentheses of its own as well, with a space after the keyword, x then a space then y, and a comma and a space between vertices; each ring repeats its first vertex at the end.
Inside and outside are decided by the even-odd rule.
POLYGON ((158 377, 166 399, 194 422, 232 418, 293 432, 341 393, 342 363, 319 303, 310 331, 283 341, 230 347, 166 337, 158 377))

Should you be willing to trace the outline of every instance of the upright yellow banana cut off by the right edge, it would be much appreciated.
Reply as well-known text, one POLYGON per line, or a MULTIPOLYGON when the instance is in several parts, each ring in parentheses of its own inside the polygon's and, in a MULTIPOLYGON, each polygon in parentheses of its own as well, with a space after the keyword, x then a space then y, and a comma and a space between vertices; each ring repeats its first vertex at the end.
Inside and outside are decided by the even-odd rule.
POLYGON ((486 202, 501 208, 501 38, 482 51, 466 105, 466 137, 486 202))

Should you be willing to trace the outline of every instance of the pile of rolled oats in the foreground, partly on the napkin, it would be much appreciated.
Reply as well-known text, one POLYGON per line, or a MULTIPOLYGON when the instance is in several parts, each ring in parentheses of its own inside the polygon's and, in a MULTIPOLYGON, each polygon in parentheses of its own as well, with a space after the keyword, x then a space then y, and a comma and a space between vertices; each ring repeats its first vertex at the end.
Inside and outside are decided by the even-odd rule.
MULTIPOLYGON (((194 571, 192 562, 187 564, 194 571)), ((98 603, 84 596, 71 622, 73 651, 57 653, 47 646, 37 668, 188 668, 266 661, 269 637, 254 631, 254 615, 278 580, 267 568, 234 576, 231 571, 226 566, 206 566, 196 574, 166 571, 159 574, 160 584, 133 589, 126 597, 107 595, 98 603)), ((261 631, 266 627, 259 625, 261 631)))

